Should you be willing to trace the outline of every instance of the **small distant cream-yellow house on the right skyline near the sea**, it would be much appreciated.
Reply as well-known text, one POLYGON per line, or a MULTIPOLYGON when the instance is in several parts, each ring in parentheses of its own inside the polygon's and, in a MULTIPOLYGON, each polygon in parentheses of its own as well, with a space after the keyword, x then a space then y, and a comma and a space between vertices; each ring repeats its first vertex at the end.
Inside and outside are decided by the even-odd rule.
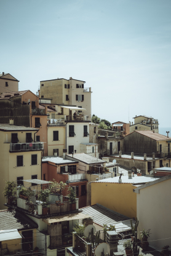
POLYGON ((158 119, 151 118, 149 116, 135 116, 134 124, 130 124, 130 132, 133 130, 154 130, 157 134, 159 133, 159 122, 158 119))

